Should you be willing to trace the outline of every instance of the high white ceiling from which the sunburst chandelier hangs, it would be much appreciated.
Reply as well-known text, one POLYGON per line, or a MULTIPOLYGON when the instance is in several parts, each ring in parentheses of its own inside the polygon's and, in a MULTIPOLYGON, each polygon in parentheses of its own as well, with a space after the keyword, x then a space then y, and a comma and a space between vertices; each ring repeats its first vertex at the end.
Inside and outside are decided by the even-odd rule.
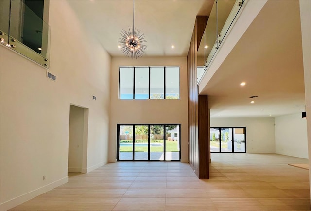
MULTIPOLYGON (((78 18, 111 56, 120 32, 133 25, 132 0, 68 0, 78 18)), ((145 56, 187 56, 197 15, 208 15, 213 0, 135 0, 135 28, 147 41, 145 56), (172 49, 171 46, 175 48, 172 49)))

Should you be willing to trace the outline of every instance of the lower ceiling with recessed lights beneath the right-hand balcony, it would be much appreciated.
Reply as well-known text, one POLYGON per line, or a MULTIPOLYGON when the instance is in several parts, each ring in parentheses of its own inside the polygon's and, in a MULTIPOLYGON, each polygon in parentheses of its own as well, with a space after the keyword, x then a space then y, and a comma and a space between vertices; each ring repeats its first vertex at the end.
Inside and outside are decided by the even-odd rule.
POLYGON ((269 0, 201 94, 211 117, 305 111, 299 1, 269 0))

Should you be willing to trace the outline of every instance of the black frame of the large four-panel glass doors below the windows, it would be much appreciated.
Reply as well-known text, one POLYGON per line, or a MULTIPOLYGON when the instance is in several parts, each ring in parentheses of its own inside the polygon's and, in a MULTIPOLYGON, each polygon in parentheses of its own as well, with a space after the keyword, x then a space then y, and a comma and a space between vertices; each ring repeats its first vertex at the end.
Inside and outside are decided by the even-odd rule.
POLYGON ((180 162, 181 159, 181 124, 117 124, 117 162, 123 161, 144 161, 144 162, 180 162), (135 160, 135 126, 148 126, 148 160, 135 160), (163 126, 163 160, 150 160, 150 126, 163 126), (166 160, 166 126, 176 125, 179 126, 179 159, 166 160), (133 126, 133 156, 132 159, 120 160, 120 126, 133 126))

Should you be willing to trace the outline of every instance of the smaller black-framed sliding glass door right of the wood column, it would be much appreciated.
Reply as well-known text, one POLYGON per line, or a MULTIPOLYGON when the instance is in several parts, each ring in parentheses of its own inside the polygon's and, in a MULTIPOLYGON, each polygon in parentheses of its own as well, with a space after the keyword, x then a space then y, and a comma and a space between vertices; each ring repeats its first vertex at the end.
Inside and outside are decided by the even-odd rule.
POLYGON ((246 128, 211 127, 210 152, 246 152, 246 128))

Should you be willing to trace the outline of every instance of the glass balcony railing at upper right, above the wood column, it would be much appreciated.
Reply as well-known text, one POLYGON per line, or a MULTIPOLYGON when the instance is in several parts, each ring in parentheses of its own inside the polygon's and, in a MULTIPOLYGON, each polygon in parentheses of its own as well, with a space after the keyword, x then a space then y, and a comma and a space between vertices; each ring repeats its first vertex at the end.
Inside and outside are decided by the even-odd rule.
POLYGON ((197 52, 197 83, 208 70, 245 0, 215 0, 197 52))

